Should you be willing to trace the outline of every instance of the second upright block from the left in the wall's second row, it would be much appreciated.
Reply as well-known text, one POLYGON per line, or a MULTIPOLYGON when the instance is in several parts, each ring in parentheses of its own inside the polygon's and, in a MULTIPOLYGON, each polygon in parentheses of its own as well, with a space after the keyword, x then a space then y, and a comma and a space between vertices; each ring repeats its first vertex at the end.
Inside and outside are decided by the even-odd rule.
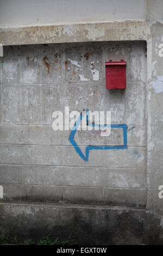
POLYGON ((40 124, 41 122, 41 86, 21 86, 21 123, 40 124))

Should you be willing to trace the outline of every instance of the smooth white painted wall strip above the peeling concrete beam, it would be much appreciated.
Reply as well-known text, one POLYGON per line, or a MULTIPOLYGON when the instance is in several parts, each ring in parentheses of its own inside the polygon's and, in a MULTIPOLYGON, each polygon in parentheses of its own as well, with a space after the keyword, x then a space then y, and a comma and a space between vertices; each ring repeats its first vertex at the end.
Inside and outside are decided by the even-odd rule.
POLYGON ((0 27, 146 20, 147 0, 0 0, 0 27))

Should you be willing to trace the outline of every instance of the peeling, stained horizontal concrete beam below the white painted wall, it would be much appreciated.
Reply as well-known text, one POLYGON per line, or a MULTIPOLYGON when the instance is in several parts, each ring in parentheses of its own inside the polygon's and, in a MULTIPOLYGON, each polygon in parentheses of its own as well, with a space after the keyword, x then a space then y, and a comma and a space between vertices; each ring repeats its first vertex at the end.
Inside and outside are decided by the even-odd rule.
POLYGON ((5 45, 52 44, 87 41, 147 40, 151 22, 127 21, 73 25, 1 28, 5 45))

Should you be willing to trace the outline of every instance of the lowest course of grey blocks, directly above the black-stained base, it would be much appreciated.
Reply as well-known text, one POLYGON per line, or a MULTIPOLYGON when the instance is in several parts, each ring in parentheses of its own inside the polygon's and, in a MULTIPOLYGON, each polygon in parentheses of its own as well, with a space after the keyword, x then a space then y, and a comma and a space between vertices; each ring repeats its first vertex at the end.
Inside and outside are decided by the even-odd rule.
POLYGON ((1 184, 4 200, 145 206, 145 188, 1 184))

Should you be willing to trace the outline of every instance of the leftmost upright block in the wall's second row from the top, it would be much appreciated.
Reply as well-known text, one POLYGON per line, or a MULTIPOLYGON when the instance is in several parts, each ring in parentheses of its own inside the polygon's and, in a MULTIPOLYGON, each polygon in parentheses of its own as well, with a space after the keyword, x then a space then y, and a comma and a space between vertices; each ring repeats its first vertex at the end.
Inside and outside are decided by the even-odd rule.
POLYGON ((2 86, 3 123, 19 124, 21 122, 21 86, 2 86))

